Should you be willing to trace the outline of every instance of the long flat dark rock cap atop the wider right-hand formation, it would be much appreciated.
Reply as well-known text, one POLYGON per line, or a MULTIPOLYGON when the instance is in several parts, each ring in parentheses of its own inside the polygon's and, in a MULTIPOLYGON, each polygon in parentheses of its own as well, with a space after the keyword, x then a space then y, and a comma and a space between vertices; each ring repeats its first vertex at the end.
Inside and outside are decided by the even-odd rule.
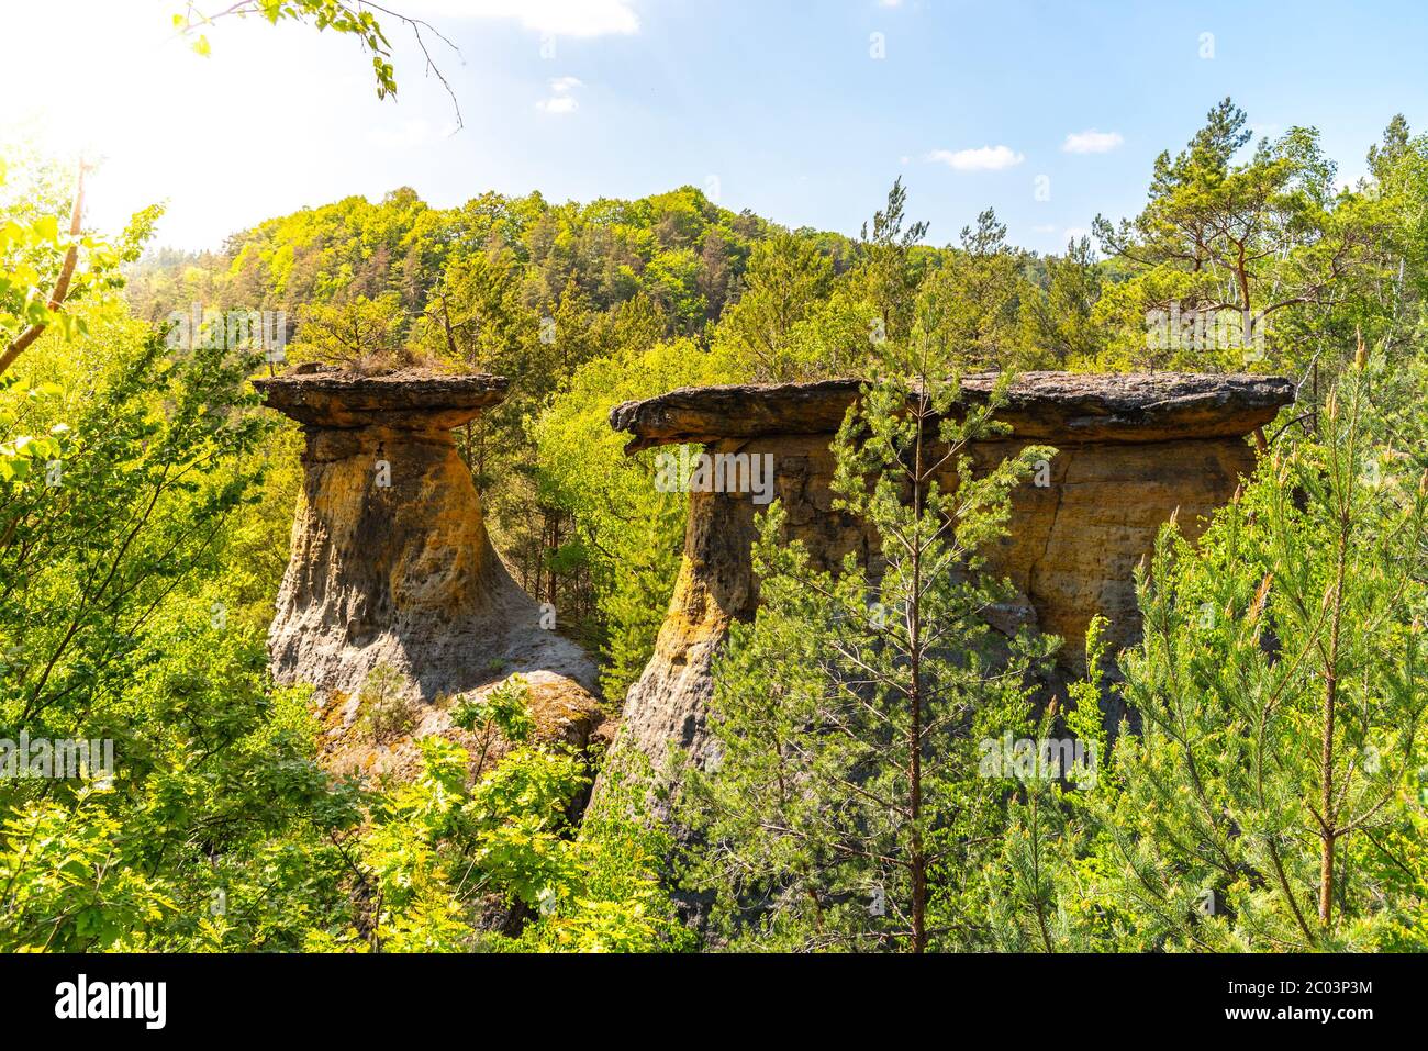
MULTIPOLYGON (((997 373, 962 377, 962 396, 985 403, 997 373)), ((625 401, 610 426, 633 436, 627 453, 653 446, 710 443, 838 430, 861 380, 774 386, 681 387, 625 401)), ((1278 376, 1200 373, 1021 373, 997 414, 1011 437, 1037 441, 1170 441, 1241 437, 1294 401, 1278 376)))

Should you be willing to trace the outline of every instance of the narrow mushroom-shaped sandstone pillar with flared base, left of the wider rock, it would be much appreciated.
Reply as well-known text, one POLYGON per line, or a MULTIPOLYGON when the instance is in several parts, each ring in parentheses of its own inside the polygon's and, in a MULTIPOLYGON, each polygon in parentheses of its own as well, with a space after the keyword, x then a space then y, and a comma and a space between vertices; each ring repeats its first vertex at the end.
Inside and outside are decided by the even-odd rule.
POLYGON ((377 665, 424 700, 526 673, 533 685, 595 668, 491 548, 451 428, 506 396, 496 376, 300 367, 254 380, 303 424, 303 490, 268 631, 280 683, 354 694, 377 665))

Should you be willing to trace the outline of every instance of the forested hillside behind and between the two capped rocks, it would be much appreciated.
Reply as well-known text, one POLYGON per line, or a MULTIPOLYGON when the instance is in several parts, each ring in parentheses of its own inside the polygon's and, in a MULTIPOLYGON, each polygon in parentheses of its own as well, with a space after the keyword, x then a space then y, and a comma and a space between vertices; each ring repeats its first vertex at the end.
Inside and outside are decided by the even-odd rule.
POLYGON ((650 464, 620 454, 605 426, 618 401, 864 374, 928 303, 972 370, 1327 384, 1355 333, 1387 354, 1411 331, 1424 278, 1405 253, 1422 246, 1401 241, 1419 236, 1421 164, 1395 119, 1375 181, 1339 194, 1312 129, 1255 144, 1225 100, 1157 161, 1140 216, 1101 223, 1098 246, 1082 237, 1061 256, 1015 248, 991 210, 930 247, 901 186, 854 240, 734 214, 693 187, 587 206, 488 193, 450 210, 403 188, 268 220, 221 253, 154 253, 131 268, 127 297, 153 323, 194 303, 283 310, 293 361, 521 377, 463 436, 463 456, 503 555, 603 650, 618 697, 648 657, 683 528, 681 501, 651 493, 650 464), (1148 328, 1157 311, 1164 331, 1148 328), (1240 346, 1244 311, 1257 338, 1240 346))

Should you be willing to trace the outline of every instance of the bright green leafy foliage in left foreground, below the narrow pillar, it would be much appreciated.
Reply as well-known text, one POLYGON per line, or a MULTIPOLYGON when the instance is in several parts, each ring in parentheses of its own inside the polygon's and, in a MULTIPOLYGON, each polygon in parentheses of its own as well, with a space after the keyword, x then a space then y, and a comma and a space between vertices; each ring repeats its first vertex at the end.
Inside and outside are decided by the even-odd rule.
MULTIPOLYGON (((291 511, 276 527, 244 514, 264 500, 271 427, 246 388, 256 361, 167 357, 131 321, 77 346, 41 344, 27 366, 54 378, 30 386, 21 367, 6 391, 43 437, 3 450, 0 737, 110 740, 116 764, 0 781, 4 947, 470 948, 493 902, 601 905, 591 880, 621 897, 593 930, 571 920, 571 944, 660 944, 641 855, 568 838, 580 757, 523 744, 467 788, 467 757, 430 740, 426 773, 391 793, 321 768, 306 691, 266 675, 286 545, 258 555, 291 511)), ((504 740, 524 741, 524 700, 501 700, 504 740)), ((374 737, 403 728, 383 675, 361 701, 374 737)))

